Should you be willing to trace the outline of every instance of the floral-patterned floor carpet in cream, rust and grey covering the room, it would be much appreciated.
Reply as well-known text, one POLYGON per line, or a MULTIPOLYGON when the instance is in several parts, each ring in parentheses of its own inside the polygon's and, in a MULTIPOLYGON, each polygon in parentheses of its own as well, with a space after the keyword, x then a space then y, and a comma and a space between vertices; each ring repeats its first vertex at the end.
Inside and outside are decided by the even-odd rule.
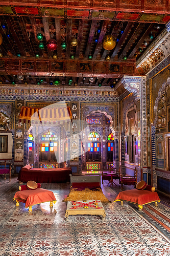
MULTIPOLYGON (((12 201, 18 190, 17 178, 0 180, 0 255, 2 256, 170 256, 170 208, 165 202, 149 204, 138 211, 134 204, 103 204, 106 218, 69 216, 65 220, 69 183, 42 184, 57 199, 25 209, 12 201)), ((117 189, 105 183, 105 196, 113 201, 117 189)))

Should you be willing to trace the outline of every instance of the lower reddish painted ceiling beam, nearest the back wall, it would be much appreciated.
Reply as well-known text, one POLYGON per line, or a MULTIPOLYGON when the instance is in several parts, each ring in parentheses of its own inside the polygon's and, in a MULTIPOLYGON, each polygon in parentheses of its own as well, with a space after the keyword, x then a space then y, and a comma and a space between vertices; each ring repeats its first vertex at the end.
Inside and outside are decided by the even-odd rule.
POLYGON ((1 58, 0 74, 55 75, 86 77, 120 77, 136 73, 135 60, 131 61, 83 61, 53 59, 1 58))

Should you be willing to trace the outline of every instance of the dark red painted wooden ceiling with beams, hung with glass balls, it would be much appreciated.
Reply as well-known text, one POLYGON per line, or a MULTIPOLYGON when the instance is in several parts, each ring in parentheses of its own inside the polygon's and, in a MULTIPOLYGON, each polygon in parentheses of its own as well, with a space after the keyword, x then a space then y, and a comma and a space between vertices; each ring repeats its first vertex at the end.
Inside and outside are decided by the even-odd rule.
POLYGON ((60 84, 69 86, 115 87, 123 75, 143 74, 136 70, 136 60, 170 18, 169 1, 165 0, 10 3, 0 5, 3 84, 37 84, 42 79, 44 86, 52 86, 57 77, 60 84), (42 41, 37 39, 38 33, 42 41), (110 51, 102 45, 107 34, 116 38, 116 46, 110 51), (47 48, 51 38, 57 41, 55 51, 47 48), (73 38, 78 40, 76 47, 71 45, 73 38), (39 48, 40 42, 44 49, 39 48), (66 49, 62 49, 62 42, 66 42, 66 49), (18 74, 22 80, 18 80, 18 74))

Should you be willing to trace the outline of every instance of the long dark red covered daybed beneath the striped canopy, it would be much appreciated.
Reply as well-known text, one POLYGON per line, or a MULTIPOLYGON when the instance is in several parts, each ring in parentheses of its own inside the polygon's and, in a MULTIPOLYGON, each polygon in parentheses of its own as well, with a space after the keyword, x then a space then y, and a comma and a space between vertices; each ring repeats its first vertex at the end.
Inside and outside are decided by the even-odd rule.
POLYGON ((28 182, 33 180, 39 183, 65 183, 70 182, 71 168, 32 168, 30 165, 22 167, 18 174, 18 180, 28 182))

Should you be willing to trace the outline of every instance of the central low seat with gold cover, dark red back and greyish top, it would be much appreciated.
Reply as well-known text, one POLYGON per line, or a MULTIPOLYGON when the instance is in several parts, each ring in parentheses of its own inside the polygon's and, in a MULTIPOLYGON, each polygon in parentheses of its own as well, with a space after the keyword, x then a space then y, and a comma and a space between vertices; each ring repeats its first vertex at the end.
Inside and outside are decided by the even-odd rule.
POLYGON ((83 200, 100 200, 109 202, 103 194, 101 188, 101 176, 72 176, 70 177, 70 192, 63 202, 83 201, 83 200))

